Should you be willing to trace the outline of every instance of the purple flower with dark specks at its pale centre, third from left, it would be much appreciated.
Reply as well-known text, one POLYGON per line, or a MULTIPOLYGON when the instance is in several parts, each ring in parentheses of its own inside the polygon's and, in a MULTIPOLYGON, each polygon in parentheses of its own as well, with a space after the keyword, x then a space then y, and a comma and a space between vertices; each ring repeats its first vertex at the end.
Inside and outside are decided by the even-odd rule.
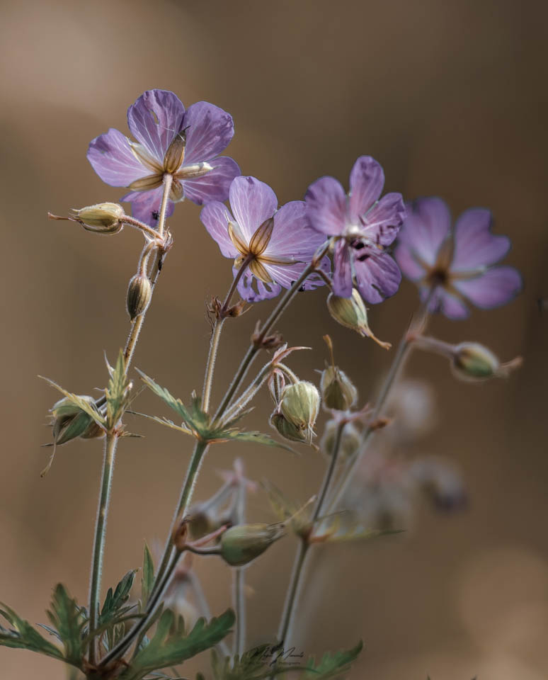
POLYGON ((304 200, 312 227, 335 241, 333 292, 352 295, 353 285, 367 302, 382 302, 399 288, 401 273, 387 253, 405 215, 400 193, 387 193, 382 167, 362 156, 350 172, 350 193, 333 177, 321 177, 304 200))

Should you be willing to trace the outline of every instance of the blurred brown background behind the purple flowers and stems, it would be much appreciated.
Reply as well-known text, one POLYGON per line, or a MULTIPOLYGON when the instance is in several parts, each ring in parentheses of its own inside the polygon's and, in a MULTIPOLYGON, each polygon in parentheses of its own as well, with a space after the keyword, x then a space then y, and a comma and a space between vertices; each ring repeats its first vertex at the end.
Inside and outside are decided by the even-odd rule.
MULTIPOLYGON (((145 89, 164 88, 186 106, 205 99, 232 113, 227 154, 273 186, 280 204, 302 198, 324 174, 347 185, 356 157, 371 154, 384 166, 387 191, 443 196, 454 215, 487 206, 496 233, 513 239, 506 261, 524 273, 522 295, 466 322, 435 318, 431 330, 447 341, 480 341, 504 361, 521 354, 523 368, 481 385, 456 382, 435 356, 413 356, 406 369, 433 390, 435 419, 405 454, 455 463, 467 508, 439 514, 419 503, 404 534, 319 548, 292 642, 308 655, 363 638, 356 679, 546 677, 548 311, 537 299, 548 296, 547 21, 545 4, 516 0, 1 4, 2 601, 45 622, 59 580, 87 599, 101 443, 63 446, 40 479, 50 453, 40 448, 50 441, 47 411, 58 395, 37 375, 79 394, 103 387, 104 353, 114 360, 129 327, 125 292, 141 237, 129 228, 98 237, 48 222, 46 213, 122 196, 93 173, 89 141, 109 127, 126 133, 127 106, 145 89)), ((135 360, 183 399, 202 385, 205 301, 223 295, 231 276, 198 216, 185 203, 171 219, 175 245, 135 360)), ((375 333, 397 342, 416 300, 404 282, 370 310, 375 333)), ((216 399, 269 309, 265 302, 227 323, 216 399)), ((279 328, 290 343, 314 347, 290 362, 302 378, 317 379, 329 333, 362 401, 374 397, 391 356, 338 327, 324 291, 297 297, 279 328)), ((268 430, 270 408, 263 395, 249 427, 268 430)), ((149 394, 139 409, 166 413, 149 394)), ((144 540, 164 541, 190 453, 190 440, 176 432, 142 420, 130 426, 145 438, 120 445, 105 585, 141 564, 144 540)), ((325 465, 304 448, 295 458, 218 446, 196 499, 217 489, 216 470, 236 455, 250 477, 303 502, 325 465)), ((248 514, 275 521, 261 492, 248 514)), ((247 571, 249 645, 275 634, 295 547, 285 538, 247 571)), ((212 611, 229 606, 227 567, 201 560, 197 569, 212 611)), ((64 669, 1 649, 0 675, 57 680, 64 669)))

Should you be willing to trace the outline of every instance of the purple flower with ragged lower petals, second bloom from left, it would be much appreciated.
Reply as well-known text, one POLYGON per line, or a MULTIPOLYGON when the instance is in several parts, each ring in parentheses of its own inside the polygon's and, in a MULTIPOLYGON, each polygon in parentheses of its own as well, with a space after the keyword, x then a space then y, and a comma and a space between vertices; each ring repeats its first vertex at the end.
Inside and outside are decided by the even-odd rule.
MULTIPOLYGON (((200 220, 222 254, 234 259, 234 276, 248 261, 238 283, 241 297, 248 302, 275 297, 299 278, 326 239, 310 227, 304 201, 292 200, 277 210, 275 193, 254 177, 236 177, 229 200, 232 214, 223 203, 212 201, 203 208, 200 220)), ((328 258, 324 258, 322 269, 329 271, 328 258)), ((308 278, 303 288, 323 283, 316 275, 308 278)))

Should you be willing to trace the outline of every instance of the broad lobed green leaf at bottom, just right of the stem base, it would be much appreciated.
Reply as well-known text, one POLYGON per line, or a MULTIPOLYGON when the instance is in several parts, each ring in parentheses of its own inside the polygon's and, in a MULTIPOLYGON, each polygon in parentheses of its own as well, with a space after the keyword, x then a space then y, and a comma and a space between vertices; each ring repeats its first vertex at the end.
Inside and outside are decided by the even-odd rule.
POLYGON ((120 676, 120 680, 139 679, 149 672, 176 666, 217 645, 230 633, 234 619, 232 609, 227 609, 218 618, 212 618, 209 623, 200 618, 190 633, 185 635, 183 618, 179 616, 176 620, 173 611, 166 609, 161 615, 154 637, 147 647, 137 652, 130 667, 120 676))

